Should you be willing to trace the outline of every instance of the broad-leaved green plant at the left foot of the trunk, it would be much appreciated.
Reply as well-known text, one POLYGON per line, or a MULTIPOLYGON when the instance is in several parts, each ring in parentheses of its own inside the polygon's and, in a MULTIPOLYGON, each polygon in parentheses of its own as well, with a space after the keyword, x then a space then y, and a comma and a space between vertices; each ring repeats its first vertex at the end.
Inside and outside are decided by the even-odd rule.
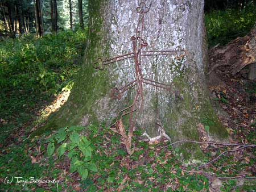
POLYGON ((78 172, 83 180, 88 177, 88 170, 97 172, 97 166, 92 161, 92 147, 90 141, 85 136, 80 136, 78 131, 84 127, 73 126, 60 128, 53 134, 47 142, 47 155, 52 156, 55 148, 58 146, 56 152, 60 158, 67 152, 67 156, 71 161, 69 171, 78 172))

